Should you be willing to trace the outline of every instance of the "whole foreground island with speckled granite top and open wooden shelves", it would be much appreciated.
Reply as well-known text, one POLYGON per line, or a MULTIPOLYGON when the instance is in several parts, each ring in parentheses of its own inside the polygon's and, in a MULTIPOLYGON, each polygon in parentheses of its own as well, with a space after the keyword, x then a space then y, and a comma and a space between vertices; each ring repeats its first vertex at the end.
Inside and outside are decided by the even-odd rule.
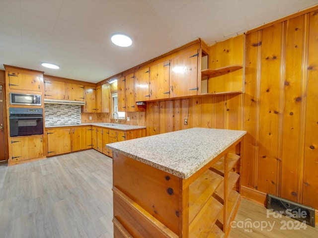
POLYGON ((245 131, 191 128, 108 144, 114 237, 224 237, 245 131))

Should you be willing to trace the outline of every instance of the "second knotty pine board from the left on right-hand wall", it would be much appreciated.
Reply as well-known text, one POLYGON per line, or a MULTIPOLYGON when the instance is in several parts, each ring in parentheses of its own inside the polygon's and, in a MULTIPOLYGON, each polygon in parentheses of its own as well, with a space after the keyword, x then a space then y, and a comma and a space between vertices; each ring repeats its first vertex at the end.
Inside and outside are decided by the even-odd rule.
POLYGON ((258 190, 276 194, 282 23, 262 30, 258 190))

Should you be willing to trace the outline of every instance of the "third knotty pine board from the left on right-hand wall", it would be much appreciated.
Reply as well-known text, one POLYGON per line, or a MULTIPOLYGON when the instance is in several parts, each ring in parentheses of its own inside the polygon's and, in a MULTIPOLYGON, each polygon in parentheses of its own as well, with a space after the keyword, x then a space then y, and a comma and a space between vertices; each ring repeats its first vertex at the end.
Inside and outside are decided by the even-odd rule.
POLYGON ((302 103, 302 56, 304 16, 287 21, 282 133, 281 196, 297 201, 300 161, 300 118, 302 103))

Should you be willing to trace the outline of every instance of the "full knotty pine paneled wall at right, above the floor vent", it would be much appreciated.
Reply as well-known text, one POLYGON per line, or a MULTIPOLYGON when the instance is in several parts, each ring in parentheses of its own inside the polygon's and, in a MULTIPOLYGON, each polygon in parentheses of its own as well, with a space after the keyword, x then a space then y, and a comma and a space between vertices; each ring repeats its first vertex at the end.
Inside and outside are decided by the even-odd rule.
POLYGON ((242 185, 318 208, 318 11, 246 35, 242 185))

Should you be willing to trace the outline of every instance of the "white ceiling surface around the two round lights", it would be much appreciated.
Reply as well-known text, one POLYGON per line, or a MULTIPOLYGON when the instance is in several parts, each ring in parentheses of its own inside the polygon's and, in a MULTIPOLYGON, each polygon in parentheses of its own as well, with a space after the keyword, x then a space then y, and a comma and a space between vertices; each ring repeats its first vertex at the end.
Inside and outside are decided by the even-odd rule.
POLYGON ((99 82, 170 50, 208 45, 318 4, 318 0, 0 0, 3 64, 99 82), (113 45, 124 32, 133 45, 113 45), (60 65, 47 69, 41 62, 60 65))

